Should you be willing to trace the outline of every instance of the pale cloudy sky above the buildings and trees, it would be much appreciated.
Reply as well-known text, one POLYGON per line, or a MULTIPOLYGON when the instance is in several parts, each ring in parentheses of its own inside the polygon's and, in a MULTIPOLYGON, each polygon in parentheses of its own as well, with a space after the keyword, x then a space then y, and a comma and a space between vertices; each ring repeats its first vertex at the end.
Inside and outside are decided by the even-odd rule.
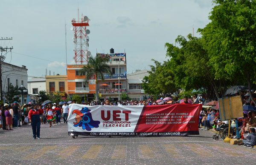
POLYGON ((89 50, 126 53, 127 72, 149 69, 151 59, 167 60, 165 43, 175 43, 209 23, 212 0, 1 0, 0 46, 12 47, 4 62, 26 65, 29 77, 66 74, 73 64, 71 20, 81 14, 90 18, 89 50))

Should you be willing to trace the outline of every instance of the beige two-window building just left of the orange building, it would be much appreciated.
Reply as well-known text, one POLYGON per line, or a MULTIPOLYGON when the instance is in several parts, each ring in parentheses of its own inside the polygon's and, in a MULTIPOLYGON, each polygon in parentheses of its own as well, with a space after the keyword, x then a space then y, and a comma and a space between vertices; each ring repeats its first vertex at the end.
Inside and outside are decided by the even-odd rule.
POLYGON ((61 92, 67 95, 67 75, 45 76, 46 92, 52 94, 61 92))

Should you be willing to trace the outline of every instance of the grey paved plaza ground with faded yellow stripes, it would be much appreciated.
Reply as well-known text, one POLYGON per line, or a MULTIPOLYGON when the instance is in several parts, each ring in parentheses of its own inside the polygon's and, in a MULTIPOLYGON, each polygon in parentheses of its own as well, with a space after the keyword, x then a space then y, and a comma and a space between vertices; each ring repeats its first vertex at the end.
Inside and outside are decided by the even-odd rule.
POLYGON ((212 139, 210 131, 189 137, 83 137, 67 135, 67 124, 0 130, 1 165, 6 164, 254 164, 255 148, 212 139))

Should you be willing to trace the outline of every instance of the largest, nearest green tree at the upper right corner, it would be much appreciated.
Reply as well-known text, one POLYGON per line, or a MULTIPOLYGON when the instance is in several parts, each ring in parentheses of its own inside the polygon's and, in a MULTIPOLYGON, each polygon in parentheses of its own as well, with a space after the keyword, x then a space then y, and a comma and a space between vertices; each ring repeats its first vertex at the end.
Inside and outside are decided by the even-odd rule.
POLYGON ((213 2, 216 6, 209 16, 211 22, 199 31, 211 54, 209 63, 215 79, 243 84, 245 78, 251 91, 256 79, 256 3, 254 0, 213 2))

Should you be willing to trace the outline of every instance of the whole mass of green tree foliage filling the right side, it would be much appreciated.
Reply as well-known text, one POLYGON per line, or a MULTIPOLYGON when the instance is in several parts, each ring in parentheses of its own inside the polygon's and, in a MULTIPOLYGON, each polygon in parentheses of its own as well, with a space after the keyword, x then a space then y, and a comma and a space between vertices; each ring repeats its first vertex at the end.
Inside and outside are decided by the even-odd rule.
POLYGON ((256 1, 213 0, 213 3, 211 22, 198 29, 201 37, 178 36, 175 44, 165 44, 169 60, 163 66, 159 63, 151 66, 150 75, 144 78, 145 92, 164 96, 163 83, 157 85, 169 79, 176 90, 204 88, 208 98, 224 96, 231 85, 247 84, 250 90, 256 80, 256 1), (159 76, 161 72, 156 73, 159 68, 171 73, 167 80, 159 76))

